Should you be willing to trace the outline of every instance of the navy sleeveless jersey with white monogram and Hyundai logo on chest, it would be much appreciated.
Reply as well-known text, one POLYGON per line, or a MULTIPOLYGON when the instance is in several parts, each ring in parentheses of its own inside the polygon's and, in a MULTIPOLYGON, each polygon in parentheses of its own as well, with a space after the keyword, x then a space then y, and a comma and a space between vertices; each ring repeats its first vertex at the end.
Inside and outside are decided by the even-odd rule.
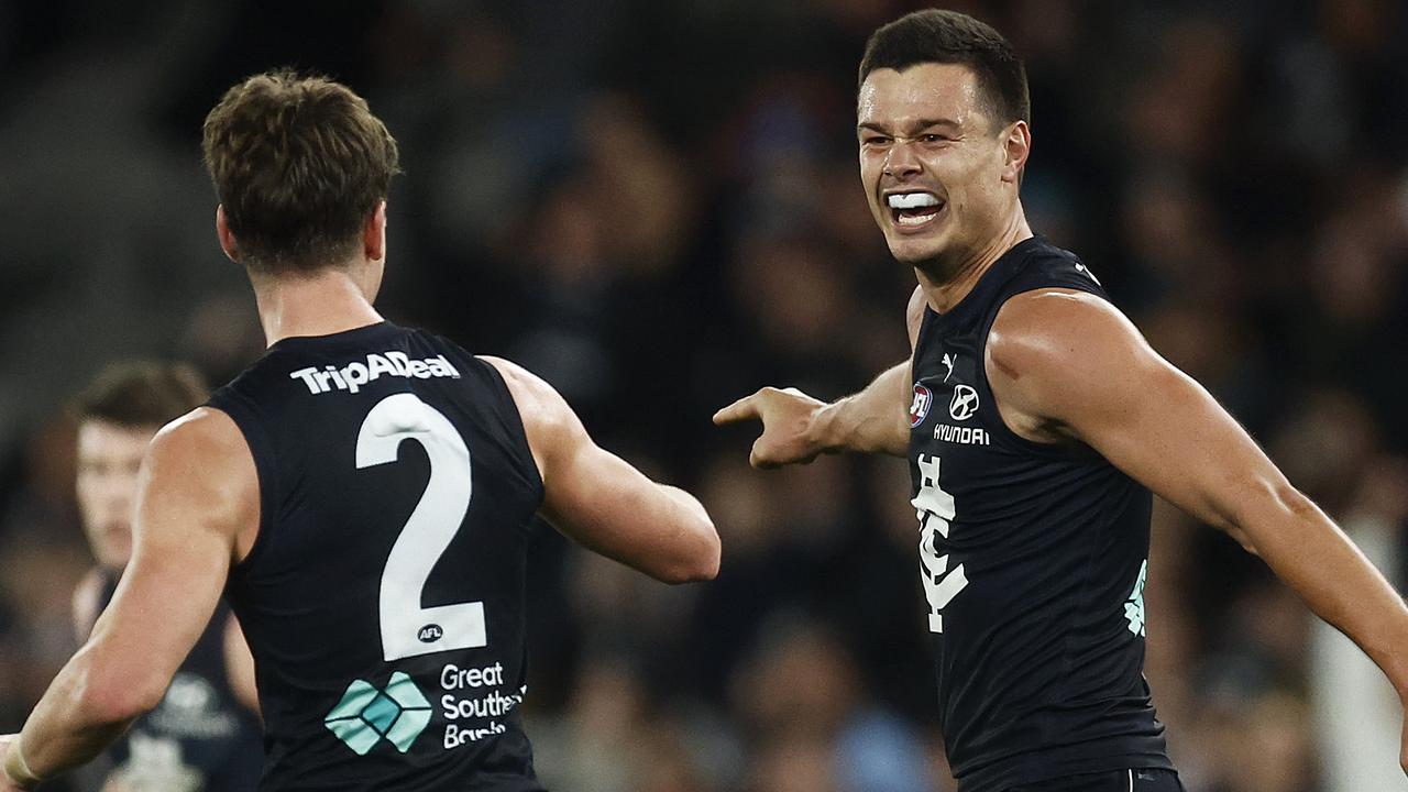
POLYGON ((962 792, 1171 768, 1143 679, 1149 490, 1086 447, 1031 443, 984 371, 1008 297, 1105 297, 1070 252, 1019 242, 912 361, 910 471, 939 716, 962 792))

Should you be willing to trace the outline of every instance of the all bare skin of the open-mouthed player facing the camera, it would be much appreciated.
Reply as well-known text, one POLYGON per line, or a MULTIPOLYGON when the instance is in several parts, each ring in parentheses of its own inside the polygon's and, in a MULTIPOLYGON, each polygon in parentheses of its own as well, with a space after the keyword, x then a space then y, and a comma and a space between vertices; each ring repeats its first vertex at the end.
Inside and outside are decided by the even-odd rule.
MULTIPOLYGON (((1018 197, 1031 132, 1024 121, 993 118, 972 70, 959 65, 876 70, 860 87, 857 116, 870 211, 891 254, 918 280, 908 309, 912 357, 924 307, 950 310, 1002 252, 1031 237, 1018 197), (922 225, 901 225, 884 202, 895 190, 931 192, 943 211, 922 225)), ((998 310, 983 365, 1015 434, 1094 448, 1235 537, 1408 699, 1402 598, 1207 390, 1153 351, 1114 306, 1067 289, 1018 295, 998 310)), ((836 451, 905 457, 910 388, 905 361, 839 402, 763 388, 714 421, 762 421, 750 454, 759 468, 836 451)), ((1408 771, 1408 729, 1402 740, 1408 771)))

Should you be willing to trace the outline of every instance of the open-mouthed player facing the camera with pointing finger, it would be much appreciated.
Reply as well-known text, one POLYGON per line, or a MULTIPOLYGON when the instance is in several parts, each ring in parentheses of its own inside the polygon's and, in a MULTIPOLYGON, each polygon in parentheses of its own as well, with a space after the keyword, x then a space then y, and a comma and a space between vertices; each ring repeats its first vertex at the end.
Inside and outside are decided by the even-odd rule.
POLYGON ((910 459, 959 789, 1181 788, 1142 674, 1149 490, 1259 554, 1408 696, 1404 600, 1080 259, 1032 234, 1007 39, 918 11, 874 32, 859 82, 866 197, 918 279, 912 358, 831 404, 765 388, 715 421, 762 420, 758 466, 910 459))

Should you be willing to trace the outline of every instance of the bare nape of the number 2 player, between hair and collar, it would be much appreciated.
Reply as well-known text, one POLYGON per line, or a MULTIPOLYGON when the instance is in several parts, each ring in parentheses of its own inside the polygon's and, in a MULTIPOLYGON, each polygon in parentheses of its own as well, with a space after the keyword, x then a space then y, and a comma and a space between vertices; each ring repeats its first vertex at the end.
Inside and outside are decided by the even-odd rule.
POLYGON ((297 335, 331 335, 382 321, 363 287, 342 269, 253 282, 259 324, 272 347, 297 335))

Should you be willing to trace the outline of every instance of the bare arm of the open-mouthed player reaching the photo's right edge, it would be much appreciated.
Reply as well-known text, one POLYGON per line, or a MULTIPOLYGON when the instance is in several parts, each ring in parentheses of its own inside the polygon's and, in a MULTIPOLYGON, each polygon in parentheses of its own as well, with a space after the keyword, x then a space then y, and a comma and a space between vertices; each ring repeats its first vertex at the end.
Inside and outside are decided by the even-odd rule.
POLYGON ((1197 382, 1112 306, 1071 292, 1010 300, 987 372, 1008 426, 1076 440, 1260 555, 1408 696, 1408 607, 1197 382))

